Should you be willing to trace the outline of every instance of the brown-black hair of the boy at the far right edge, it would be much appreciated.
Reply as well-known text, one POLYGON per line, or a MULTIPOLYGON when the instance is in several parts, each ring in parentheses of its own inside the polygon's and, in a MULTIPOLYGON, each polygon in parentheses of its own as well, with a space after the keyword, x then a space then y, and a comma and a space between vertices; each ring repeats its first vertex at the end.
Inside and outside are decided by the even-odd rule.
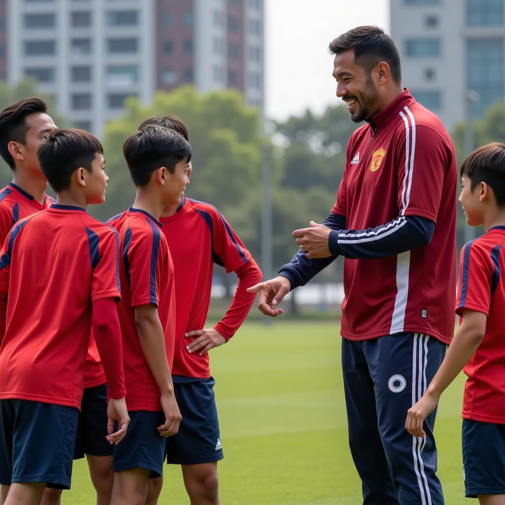
POLYGON ((460 176, 470 179, 472 192, 485 182, 494 193, 496 205, 505 206, 505 143, 491 142, 478 147, 461 165, 460 176))

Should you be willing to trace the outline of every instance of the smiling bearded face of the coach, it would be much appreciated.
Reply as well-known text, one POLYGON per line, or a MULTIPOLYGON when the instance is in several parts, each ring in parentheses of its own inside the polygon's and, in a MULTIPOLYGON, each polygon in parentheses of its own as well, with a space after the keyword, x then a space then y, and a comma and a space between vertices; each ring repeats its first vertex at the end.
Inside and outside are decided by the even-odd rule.
MULTIPOLYGON (((381 110, 381 97, 374 82, 380 75, 381 62, 370 72, 355 63, 354 49, 335 55, 333 77, 337 81, 337 96, 347 104, 350 118, 355 123, 371 118, 381 110)), ((379 77, 380 79, 380 77, 379 77)))

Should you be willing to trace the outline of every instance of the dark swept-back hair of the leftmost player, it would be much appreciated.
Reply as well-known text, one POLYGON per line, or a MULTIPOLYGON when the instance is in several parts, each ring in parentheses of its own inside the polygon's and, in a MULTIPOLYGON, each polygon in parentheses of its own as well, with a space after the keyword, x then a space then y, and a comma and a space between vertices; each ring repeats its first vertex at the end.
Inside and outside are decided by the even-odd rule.
POLYGON ((10 105, 0 113, 0 155, 12 170, 16 166, 9 153, 9 142, 26 145, 26 132, 30 129, 26 116, 37 112, 46 113, 47 105, 42 98, 30 96, 10 105))

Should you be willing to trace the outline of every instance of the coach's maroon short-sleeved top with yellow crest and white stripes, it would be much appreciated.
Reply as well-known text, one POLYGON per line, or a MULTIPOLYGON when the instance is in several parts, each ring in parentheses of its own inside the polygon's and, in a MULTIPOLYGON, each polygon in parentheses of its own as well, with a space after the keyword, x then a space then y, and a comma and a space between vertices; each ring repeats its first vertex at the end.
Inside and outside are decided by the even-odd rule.
MULTIPOLYGON (((401 216, 429 219, 435 229, 426 246, 381 259, 344 260, 343 337, 414 332, 450 342, 457 180, 449 135, 407 89, 352 134, 332 209, 346 218, 346 229, 367 230, 401 216)), ((356 240, 375 239, 373 232, 363 235, 356 240)))

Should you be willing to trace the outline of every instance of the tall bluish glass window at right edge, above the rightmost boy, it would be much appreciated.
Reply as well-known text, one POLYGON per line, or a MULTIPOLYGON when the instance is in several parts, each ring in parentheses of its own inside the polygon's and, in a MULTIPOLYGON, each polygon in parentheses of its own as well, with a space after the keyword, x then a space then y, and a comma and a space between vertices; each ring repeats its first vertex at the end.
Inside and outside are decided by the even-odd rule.
POLYGON ((482 38, 467 41, 467 89, 477 91, 475 117, 503 98, 503 39, 482 38))

